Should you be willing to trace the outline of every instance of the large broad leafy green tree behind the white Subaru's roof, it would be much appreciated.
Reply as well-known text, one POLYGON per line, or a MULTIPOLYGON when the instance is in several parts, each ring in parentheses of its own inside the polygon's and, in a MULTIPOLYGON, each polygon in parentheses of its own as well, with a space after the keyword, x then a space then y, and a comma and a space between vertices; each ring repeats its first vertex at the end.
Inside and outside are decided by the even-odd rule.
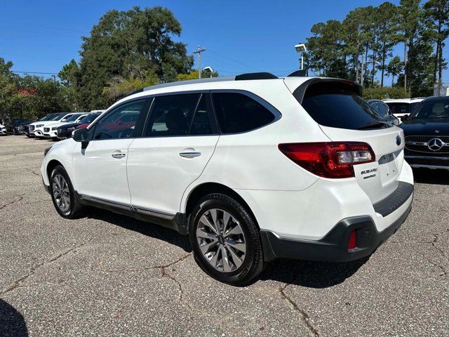
POLYGON ((112 103, 103 95, 108 83, 121 77, 142 79, 154 72, 163 81, 187 73, 193 58, 185 44, 173 41, 181 33, 180 22, 167 8, 133 7, 130 11, 107 12, 83 37, 79 61, 79 105, 83 109, 104 108, 112 103))

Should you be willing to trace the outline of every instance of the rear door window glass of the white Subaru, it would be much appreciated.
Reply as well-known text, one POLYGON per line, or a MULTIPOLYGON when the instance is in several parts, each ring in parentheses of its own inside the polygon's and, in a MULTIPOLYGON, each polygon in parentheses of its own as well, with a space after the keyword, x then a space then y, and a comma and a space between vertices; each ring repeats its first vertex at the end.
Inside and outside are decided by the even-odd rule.
POLYGON ((154 98, 144 135, 146 137, 186 136, 200 94, 180 94, 154 98))

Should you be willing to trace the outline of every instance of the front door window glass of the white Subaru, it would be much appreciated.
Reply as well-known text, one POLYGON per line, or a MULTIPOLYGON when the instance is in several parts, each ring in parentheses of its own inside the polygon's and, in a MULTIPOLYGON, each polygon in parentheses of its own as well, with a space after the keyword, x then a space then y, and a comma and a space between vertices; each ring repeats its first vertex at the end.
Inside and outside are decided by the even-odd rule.
POLYGON ((135 137, 135 124, 146 103, 147 100, 135 100, 116 107, 95 124, 92 139, 135 137))

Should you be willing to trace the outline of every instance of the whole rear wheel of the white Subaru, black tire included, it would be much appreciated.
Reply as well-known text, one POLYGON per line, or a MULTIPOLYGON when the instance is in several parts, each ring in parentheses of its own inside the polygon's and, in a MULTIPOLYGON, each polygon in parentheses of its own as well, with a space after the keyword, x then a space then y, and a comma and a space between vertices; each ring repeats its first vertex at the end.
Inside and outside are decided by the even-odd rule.
POLYGON ((241 286, 263 270, 259 228, 232 197, 215 193, 201 199, 190 216, 189 237, 196 263, 220 282, 241 286))

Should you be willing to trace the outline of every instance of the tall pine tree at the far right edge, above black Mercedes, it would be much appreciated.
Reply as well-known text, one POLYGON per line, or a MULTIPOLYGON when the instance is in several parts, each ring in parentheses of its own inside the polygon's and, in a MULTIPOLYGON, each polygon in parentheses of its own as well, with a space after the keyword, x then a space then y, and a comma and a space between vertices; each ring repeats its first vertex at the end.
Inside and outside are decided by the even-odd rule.
POLYGON ((435 43, 434 83, 438 72, 438 85, 443 84, 444 40, 449 36, 449 0, 429 0, 424 4, 424 36, 435 43))

